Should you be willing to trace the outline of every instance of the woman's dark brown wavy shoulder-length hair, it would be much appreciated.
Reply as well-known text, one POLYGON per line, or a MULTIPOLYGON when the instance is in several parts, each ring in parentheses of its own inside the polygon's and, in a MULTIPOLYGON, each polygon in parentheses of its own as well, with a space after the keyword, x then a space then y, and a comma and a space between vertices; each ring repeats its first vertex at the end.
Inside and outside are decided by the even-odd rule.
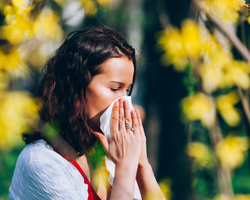
MULTIPOLYGON (((96 141, 88 125, 86 88, 102 73, 101 64, 117 57, 132 60, 134 82, 135 50, 125 37, 106 27, 86 28, 70 33, 43 69, 38 87, 41 120, 57 124, 61 136, 80 155, 88 153, 96 141)), ((26 134, 23 138, 30 143, 44 136, 26 134)))

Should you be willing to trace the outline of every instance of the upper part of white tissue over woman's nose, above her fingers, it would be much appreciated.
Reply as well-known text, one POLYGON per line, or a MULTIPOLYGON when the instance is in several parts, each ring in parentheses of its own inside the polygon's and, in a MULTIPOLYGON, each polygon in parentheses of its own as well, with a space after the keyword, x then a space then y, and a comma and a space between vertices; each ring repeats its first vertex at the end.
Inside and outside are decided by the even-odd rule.
MULTIPOLYGON (((128 101, 130 110, 134 109, 131 102, 131 96, 123 96, 119 97, 118 99, 120 98, 123 98, 124 100, 128 101)), ((116 99, 115 101, 117 101, 118 99, 116 99)), ((103 134, 108 138, 108 141, 110 141, 111 138, 111 114, 115 101, 113 101, 113 103, 110 104, 107 110, 105 110, 105 112, 100 117, 100 128, 103 134)))

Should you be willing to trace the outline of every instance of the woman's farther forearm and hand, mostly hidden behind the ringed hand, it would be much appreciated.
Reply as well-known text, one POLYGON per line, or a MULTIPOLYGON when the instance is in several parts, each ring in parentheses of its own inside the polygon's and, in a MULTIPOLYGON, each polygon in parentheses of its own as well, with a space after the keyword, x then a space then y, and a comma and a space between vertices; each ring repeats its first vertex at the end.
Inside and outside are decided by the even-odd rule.
MULTIPOLYGON (((138 186, 140 188, 142 197, 145 198, 147 196, 153 196, 155 199, 159 200, 165 200, 166 198, 164 197, 156 179, 154 176, 154 172, 152 170, 151 165, 148 162, 147 158, 147 148, 146 148, 146 137, 144 133, 144 129, 142 126, 142 121, 140 118, 140 114, 138 111, 136 111, 137 114, 137 119, 139 122, 139 127, 140 127, 140 134, 142 138, 142 149, 141 149, 141 155, 139 159, 139 164, 138 164, 138 170, 137 170, 137 175, 136 175, 136 180, 138 183, 138 186)), ((152 199, 152 198, 150 198, 152 199)))

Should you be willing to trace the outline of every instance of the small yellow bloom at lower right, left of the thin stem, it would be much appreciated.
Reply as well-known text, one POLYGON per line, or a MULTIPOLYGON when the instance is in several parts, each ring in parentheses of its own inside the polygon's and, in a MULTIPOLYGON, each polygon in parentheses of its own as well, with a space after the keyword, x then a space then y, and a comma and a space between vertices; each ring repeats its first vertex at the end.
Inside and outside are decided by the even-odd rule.
POLYGON ((198 168, 212 167, 215 164, 213 156, 206 145, 200 142, 188 144, 187 154, 194 158, 194 166, 198 168))

